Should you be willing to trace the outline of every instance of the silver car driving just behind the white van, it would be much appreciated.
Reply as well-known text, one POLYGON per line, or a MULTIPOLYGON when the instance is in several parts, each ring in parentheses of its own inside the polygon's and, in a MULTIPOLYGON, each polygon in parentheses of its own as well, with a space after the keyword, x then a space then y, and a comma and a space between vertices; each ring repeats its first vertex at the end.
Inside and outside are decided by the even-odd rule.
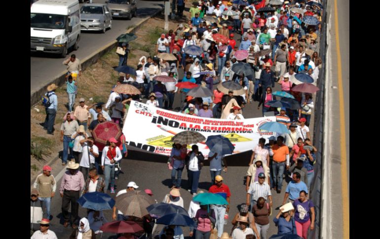
POLYGON ((106 4, 84 4, 80 8, 80 30, 102 31, 112 28, 112 15, 106 4))

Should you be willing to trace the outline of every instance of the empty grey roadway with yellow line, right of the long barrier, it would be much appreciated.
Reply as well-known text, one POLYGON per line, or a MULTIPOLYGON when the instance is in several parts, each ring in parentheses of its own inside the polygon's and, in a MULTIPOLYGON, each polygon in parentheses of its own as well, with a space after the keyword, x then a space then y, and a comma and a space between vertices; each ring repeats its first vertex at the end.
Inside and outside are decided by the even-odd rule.
MULTIPOLYGON (((335 1, 329 2, 331 9, 331 31, 329 48, 331 52, 331 81, 327 82, 331 97, 331 117, 329 128, 325 131, 330 135, 331 145, 327 160, 330 162, 331 176, 331 201, 336 202, 331 206, 331 238, 348 238, 349 231, 349 2, 337 0, 338 26, 335 23, 335 1), (336 30, 339 31, 340 56, 338 56, 338 42, 336 30), (339 84, 338 61, 341 61, 342 85, 339 84), (340 88, 342 88, 340 97, 340 88), (342 126, 344 123, 344 126, 342 126), (345 131, 345 137, 344 132, 345 131), (345 140, 345 143, 344 143, 345 140), (346 153, 346 157, 342 154, 346 153), (343 187, 343 188, 342 188, 343 187), (344 190, 345 188, 345 190, 344 190), (348 201, 348 202, 347 202, 348 201), (345 206, 346 205, 346 206, 345 206), (344 213, 343 213, 344 212, 344 213), (344 216, 343 216, 344 214, 344 216), (345 224, 346 223, 346 224, 345 224), (344 225, 345 224, 345 225, 344 225), (345 231, 346 237, 342 232, 345 231)), ((328 16, 329 17, 329 16, 328 16)))

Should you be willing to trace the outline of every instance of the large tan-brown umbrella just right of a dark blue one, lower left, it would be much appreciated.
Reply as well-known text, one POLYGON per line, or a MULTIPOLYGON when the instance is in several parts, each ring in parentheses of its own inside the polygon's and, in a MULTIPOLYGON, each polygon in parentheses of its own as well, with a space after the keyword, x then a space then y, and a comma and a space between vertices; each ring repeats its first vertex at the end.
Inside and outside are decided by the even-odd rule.
POLYGON ((117 196, 115 206, 126 216, 143 217, 149 214, 147 207, 154 203, 145 192, 131 191, 117 196))

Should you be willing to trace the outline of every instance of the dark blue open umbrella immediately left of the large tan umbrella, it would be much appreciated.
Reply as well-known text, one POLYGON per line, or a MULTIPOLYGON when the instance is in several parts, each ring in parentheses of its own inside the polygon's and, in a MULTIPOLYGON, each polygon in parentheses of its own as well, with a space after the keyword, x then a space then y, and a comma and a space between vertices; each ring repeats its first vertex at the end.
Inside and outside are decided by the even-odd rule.
POLYGON ((84 208, 96 211, 112 209, 115 205, 110 195, 99 192, 85 193, 76 202, 84 208))

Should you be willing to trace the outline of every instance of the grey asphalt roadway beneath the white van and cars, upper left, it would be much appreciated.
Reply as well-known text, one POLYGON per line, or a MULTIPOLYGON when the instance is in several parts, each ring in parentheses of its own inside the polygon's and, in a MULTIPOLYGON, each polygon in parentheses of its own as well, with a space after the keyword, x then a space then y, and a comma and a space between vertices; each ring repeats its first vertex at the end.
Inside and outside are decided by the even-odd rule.
MULTIPOLYGON (((93 3, 104 2, 105 0, 93 0, 93 3)), ((124 34, 129 26, 136 25, 141 19, 152 16, 156 8, 163 6, 162 1, 137 0, 136 2, 137 17, 133 17, 131 20, 113 19, 112 29, 107 30, 105 34, 91 31, 81 32, 79 49, 69 51, 66 58, 43 53, 31 53, 31 93, 39 90, 65 70, 66 66, 62 65, 62 62, 71 54, 76 54, 76 58, 79 60, 86 58, 107 43, 112 42, 120 34, 124 34)))

